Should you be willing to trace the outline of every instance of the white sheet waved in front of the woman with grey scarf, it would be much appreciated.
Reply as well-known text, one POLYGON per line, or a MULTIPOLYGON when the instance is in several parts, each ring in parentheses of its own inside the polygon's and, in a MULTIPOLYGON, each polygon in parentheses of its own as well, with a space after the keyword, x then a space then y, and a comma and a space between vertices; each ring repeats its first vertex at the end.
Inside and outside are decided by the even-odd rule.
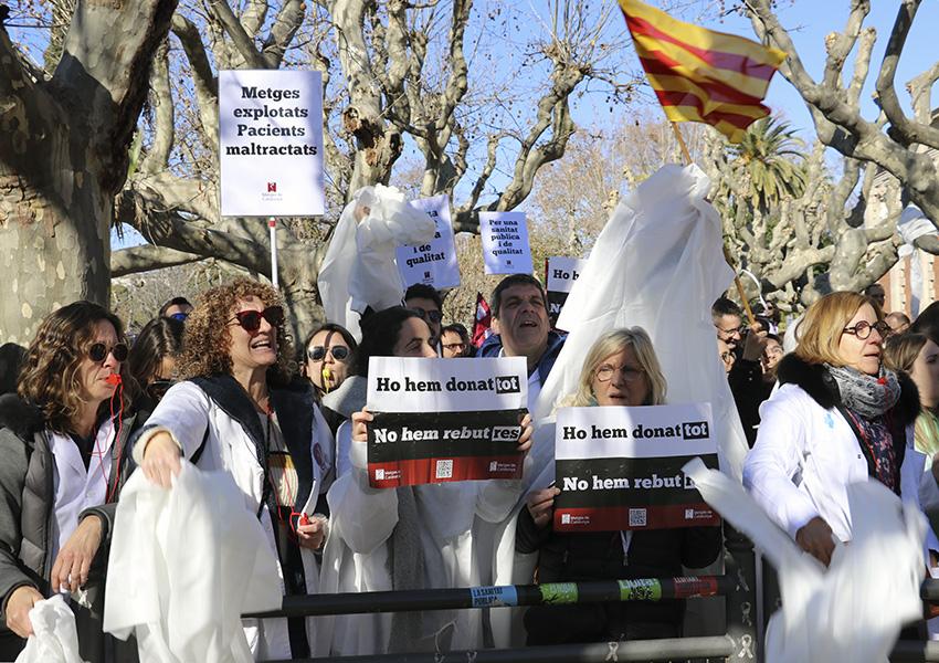
POLYGON ((684 471, 779 573, 783 607, 767 630, 767 663, 887 661, 903 624, 921 615, 926 519, 919 509, 878 482, 850 485, 853 538, 825 570, 739 484, 698 459, 684 471))

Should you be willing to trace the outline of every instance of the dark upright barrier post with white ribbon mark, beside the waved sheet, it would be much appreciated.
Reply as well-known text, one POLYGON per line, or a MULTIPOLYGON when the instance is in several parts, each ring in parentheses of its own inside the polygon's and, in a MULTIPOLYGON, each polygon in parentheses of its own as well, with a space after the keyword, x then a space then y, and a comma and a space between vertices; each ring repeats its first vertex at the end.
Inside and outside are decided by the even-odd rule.
POLYGON ((726 573, 737 579, 737 587, 725 598, 727 635, 734 641, 728 663, 757 661, 757 567, 753 544, 724 523, 726 573))

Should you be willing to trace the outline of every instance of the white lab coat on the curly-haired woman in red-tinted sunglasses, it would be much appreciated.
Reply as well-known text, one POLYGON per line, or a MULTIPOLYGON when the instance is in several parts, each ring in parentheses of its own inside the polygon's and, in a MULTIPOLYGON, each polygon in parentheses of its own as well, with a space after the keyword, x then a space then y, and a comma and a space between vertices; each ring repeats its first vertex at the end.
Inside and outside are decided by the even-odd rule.
MULTIPOLYGON (((325 493, 328 485, 325 480, 333 466, 333 436, 329 427, 319 410, 314 408, 314 427, 310 431, 310 444, 314 449, 313 488, 307 497, 304 512, 313 514, 317 497, 325 493), (318 450, 316 449, 318 446, 318 450)), ((168 431, 182 449, 184 457, 191 457, 202 444, 205 425, 209 436, 197 466, 203 471, 225 471, 234 478, 235 485, 244 497, 244 507, 256 514, 264 494, 264 469, 259 464, 254 443, 242 425, 232 419, 222 408, 211 400, 202 389, 192 382, 180 382, 167 391, 157 409, 147 420, 148 429, 134 448, 134 460, 143 461, 141 450, 157 431, 168 431)), ((266 533, 271 550, 277 552, 274 526, 265 505, 261 509, 261 525, 266 533)), ((302 548, 304 575, 307 593, 319 592, 319 568, 313 552, 302 548)), ((284 593, 283 573, 281 573, 281 593, 284 593)), ((289 657, 291 646, 285 619, 244 620, 245 632, 255 659, 289 657)), ((313 619, 307 619, 307 635, 314 641, 313 619)))

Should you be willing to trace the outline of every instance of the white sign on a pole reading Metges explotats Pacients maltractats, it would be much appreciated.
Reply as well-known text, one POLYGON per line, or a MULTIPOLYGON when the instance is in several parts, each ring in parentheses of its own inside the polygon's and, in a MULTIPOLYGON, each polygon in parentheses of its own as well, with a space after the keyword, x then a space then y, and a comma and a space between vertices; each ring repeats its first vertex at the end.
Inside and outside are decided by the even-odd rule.
POLYGON ((326 211, 319 72, 219 72, 223 217, 312 217, 326 211))

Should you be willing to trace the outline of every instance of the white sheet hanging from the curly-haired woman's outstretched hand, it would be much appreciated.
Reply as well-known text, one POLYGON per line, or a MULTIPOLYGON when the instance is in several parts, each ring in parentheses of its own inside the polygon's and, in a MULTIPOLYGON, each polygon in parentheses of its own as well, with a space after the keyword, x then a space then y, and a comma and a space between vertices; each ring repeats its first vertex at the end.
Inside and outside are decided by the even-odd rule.
POLYGON ((122 492, 104 630, 136 630, 140 663, 247 663, 240 615, 281 607, 277 560, 232 477, 182 465, 169 491, 136 472, 122 492))

